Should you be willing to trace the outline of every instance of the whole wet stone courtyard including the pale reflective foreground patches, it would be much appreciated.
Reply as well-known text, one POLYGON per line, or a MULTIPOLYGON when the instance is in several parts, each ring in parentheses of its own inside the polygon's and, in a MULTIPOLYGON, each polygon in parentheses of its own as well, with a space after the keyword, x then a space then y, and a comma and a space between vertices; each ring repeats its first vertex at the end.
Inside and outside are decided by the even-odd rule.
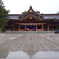
POLYGON ((54 36, 42 34, 17 35, 17 37, 14 35, 0 36, 0 58, 59 58, 59 37, 54 36), (51 40, 56 41, 56 43, 48 38, 52 38, 51 40), (56 49, 56 51, 53 51, 53 49, 56 49))

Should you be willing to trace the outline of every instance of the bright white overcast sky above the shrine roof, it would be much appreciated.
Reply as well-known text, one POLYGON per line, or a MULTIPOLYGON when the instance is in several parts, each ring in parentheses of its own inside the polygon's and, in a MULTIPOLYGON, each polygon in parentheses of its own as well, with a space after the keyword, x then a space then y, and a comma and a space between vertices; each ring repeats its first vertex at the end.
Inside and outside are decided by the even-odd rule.
POLYGON ((59 0, 2 0, 5 8, 10 10, 9 14, 21 14, 27 11, 30 6, 35 11, 44 14, 52 14, 59 11, 59 0))

